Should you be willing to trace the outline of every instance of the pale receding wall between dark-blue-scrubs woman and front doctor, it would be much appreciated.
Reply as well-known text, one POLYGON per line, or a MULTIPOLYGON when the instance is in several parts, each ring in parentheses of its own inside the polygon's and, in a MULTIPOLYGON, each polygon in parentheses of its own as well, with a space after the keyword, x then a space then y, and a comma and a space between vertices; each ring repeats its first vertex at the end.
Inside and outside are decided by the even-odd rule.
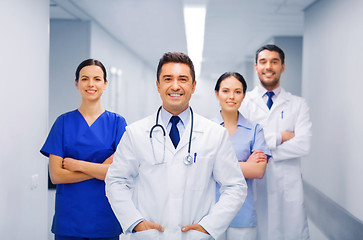
MULTIPOLYGON (((143 56, 111 34, 92 23, 90 54, 104 62, 110 76, 103 96, 104 105, 124 116, 130 124, 154 113, 161 104, 156 90, 156 67, 159 59, 152 63, 147 62, 143 56)), ((160 57, 162 54, 161 52, 160 57)))

